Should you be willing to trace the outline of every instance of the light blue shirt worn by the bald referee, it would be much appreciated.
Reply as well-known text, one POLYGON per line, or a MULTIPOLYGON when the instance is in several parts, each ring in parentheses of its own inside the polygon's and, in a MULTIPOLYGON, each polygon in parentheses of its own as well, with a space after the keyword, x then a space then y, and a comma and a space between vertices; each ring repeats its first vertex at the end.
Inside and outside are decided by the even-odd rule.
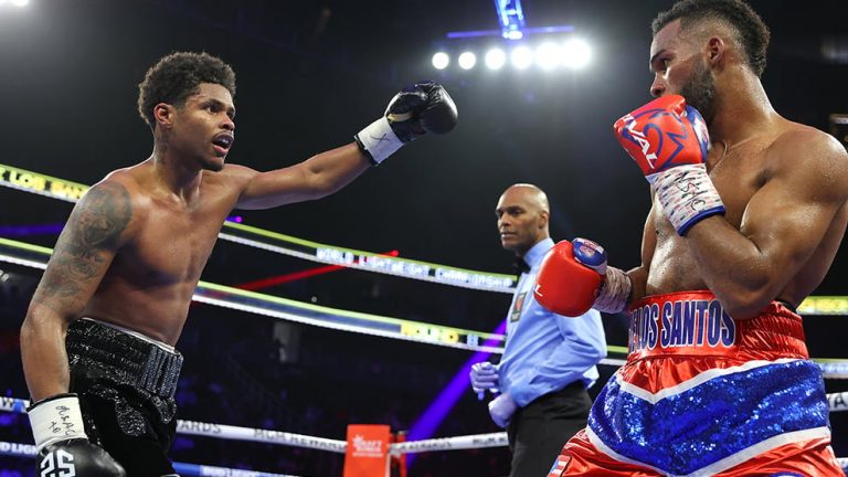
POLYGON ((521 407, 577 380, 591 386, 598 378, 595 364, 606 356, 597 310, 569 318, 536 303, 536 276, 552 247, 553 241, 545 239, 527 252, 523 259, 530 271, 519 277, 507 315, 507 346, 498 364, 500 392, 508 392, 521 407))

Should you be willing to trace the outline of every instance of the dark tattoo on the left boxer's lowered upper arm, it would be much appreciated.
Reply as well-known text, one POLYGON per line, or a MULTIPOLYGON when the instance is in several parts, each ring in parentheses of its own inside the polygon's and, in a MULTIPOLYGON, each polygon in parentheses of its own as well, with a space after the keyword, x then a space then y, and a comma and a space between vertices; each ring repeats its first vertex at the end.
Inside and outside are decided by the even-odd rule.
POLYGON ((91 287, 92 279, 99 280, 131 216, 124 186, 104 182, 89 189, 67 220, 33 301, 60 311, 59 300, 91 287))

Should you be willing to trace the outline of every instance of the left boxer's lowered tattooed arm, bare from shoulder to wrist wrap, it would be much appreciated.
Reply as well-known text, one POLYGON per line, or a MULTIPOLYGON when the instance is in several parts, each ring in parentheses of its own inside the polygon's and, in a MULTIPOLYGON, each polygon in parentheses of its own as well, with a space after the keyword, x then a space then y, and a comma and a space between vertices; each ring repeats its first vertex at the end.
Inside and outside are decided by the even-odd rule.
POLYGON ((65 335, 97 289, 132 215, 127 190, 100 182, 74 206, 21 326, 21 359, 34 401, 67 392, 65 335))

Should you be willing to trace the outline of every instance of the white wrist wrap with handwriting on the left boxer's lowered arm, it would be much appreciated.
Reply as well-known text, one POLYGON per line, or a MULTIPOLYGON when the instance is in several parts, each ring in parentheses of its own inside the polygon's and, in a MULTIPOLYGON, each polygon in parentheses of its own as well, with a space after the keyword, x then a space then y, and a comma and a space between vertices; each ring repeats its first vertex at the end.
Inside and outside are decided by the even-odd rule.
POLYGON ((88 438, 76 394, 56 394, 39 401, 26 410, 26 414, 39 452, 60 441, 88 438))

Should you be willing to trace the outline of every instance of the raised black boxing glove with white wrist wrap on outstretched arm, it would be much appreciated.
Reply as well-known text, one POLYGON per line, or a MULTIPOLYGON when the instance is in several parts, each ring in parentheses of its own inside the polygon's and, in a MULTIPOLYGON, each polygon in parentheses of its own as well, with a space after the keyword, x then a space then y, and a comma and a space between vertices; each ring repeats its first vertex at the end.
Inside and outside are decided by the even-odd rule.
POLYGON ((377 166, 420 136, 449 132, 456 118, 456 105, 445 88, 435 82, 421 82, 394 95, 383 117, 359 131, 354 139, 377 166))

